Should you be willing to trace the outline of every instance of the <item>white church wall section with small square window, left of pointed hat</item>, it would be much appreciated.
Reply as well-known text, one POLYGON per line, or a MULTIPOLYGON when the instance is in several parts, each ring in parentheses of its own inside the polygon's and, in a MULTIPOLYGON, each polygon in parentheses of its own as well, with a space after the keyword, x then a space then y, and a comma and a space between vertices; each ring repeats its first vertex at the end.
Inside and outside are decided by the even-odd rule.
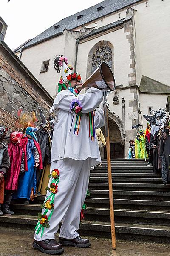
POLYGON ((21 61, 42 83, 51 96, 55 96, 59 76, 54 70, 53 60, 56 54, 63 54, 65 34, 23 50, 21 61), (40 73, 43 61, 50 59, 48 71, 40 73))

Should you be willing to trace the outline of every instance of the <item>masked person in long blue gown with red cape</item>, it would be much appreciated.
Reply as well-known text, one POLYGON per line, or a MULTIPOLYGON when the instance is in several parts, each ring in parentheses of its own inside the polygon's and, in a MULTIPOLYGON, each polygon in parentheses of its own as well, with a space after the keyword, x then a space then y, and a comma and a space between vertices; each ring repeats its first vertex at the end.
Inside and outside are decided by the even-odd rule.
POLYGON ((14 192, 13 199, 22 199, 23 204, 33 201, 36 192, 36 168, 43 169, 40 145, 37 142, 34 127, 26 128, 26 136, 21 139, 24 152, 25 172, 19 177, 18 190, 14 192))

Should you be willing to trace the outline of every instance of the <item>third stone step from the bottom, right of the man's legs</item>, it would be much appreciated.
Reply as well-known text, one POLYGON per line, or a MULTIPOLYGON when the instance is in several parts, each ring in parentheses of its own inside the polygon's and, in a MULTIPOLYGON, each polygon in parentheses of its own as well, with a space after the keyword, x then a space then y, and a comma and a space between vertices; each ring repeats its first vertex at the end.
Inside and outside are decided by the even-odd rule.
MULTIPOLYGON (((143 209, 169 211, 170 201, 163 200, 135 200, 135 199, 114 199, 115 209, 143 209)), ((109 208, 108 198, 86 198, 88 207, 109 208)))

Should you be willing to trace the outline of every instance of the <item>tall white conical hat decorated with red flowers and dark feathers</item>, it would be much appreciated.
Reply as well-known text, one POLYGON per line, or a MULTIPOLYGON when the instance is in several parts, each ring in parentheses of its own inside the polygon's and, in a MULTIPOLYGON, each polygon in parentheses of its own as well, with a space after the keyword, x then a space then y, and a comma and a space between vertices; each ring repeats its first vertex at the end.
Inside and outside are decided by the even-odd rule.
POLYGON ((63 55, 56 56, 54 60, 54 68, 57 73, 60 73, 62 70, 62 76, 60 77, 58 83, 58 92, 67 89, 66 83, 69 83, 73 79, 77 79, 77 81, 81 82, 81 76, 78 73, 73 73, 73 67, 68 65, 68 59, 63 55))

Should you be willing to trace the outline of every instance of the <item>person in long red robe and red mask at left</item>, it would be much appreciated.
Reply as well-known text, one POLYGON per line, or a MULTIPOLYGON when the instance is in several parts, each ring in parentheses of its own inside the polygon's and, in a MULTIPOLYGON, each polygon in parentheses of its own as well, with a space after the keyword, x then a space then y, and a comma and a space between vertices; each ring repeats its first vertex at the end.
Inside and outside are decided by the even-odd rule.
POLYGON ((3 213, 5 215, 14 214, 10 210, 12 194, 18 188, 19 175, 24 172, 24 154, 20 145, 22 136, 22 132, 18 131, 13 131, 10 134, 10 143, 8 144, 10 167, 5 178, 5 198, 3 204, 3 213))

